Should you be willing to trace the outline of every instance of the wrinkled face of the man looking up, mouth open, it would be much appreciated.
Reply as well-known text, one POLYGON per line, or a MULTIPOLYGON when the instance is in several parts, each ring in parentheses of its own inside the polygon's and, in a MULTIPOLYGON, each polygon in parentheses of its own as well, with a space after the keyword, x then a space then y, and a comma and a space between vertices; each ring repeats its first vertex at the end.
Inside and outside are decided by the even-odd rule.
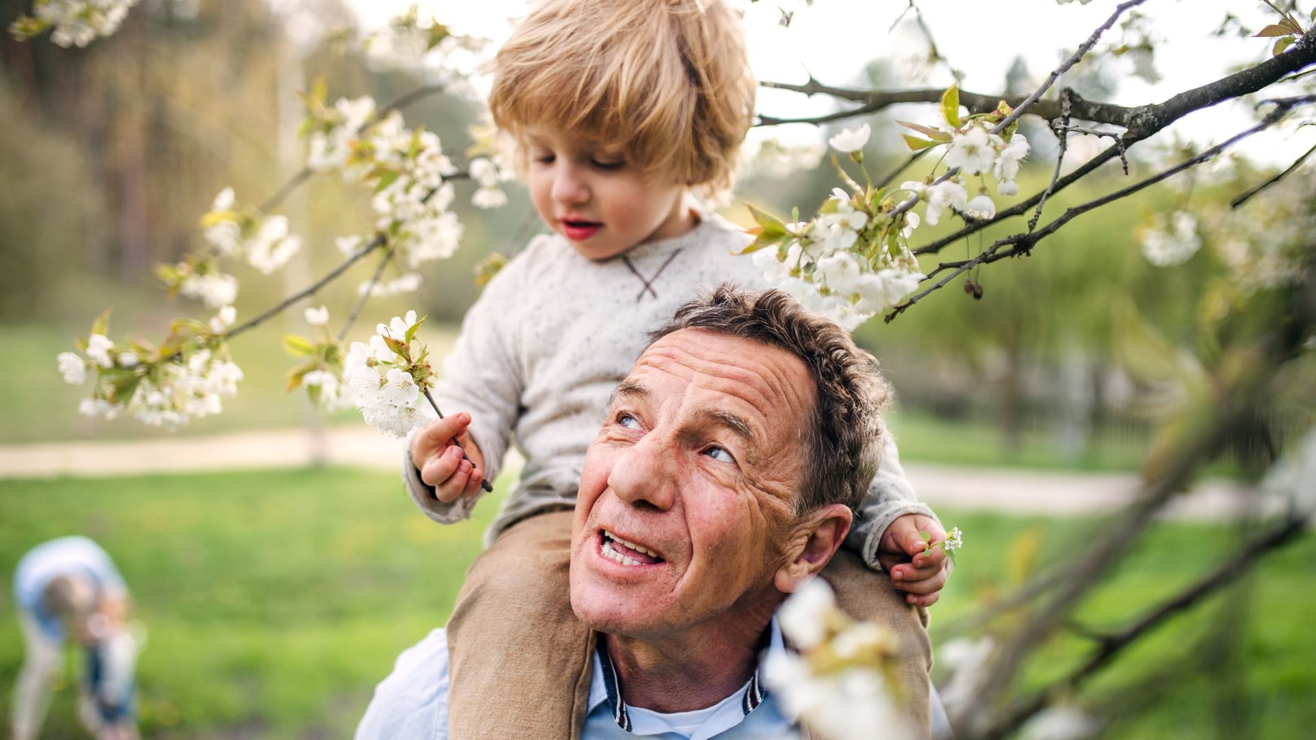
POLYGON ((775 606, 813 396, 786 350, 699 329, 654 342, 586 456, 576 615, 644 637, 775 606))

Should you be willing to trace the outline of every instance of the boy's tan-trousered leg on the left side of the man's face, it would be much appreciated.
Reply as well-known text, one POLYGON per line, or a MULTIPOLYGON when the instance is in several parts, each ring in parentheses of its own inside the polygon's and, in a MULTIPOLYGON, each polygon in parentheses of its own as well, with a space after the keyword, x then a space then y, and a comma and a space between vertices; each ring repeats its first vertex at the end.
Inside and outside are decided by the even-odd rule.
POLYGON ((519 521, 466 574, 447 620, 449 737, 565 739, 580 724, 592 641, 571 611, 571 517, 519 521))

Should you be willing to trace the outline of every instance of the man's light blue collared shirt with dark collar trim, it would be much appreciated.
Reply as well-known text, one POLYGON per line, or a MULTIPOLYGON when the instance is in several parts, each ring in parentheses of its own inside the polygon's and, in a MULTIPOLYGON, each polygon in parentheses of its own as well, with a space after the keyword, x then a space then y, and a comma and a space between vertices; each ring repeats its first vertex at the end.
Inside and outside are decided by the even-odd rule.
MULTIPOLYGON (((767 650, 784 650, 774 619, 767 650)), ((749 740, 795 739, 799 733, 774 697, 758 686, 758 675, 708 710, 671 715, 628 707, 620 700, 616 678, 594 657, 584 740, 749 740), (624 718, 624 719, 622 719, 624 718), (694 727, 690 727, 694 723, 694 727), (628 724, 630 729, 622 729, 628 724), (679 731, 678 727, 687 727, 679 731)), ((528 699, 533 700, 533 699, 528 699)), ((375 698, 357 727, 357 740, 446 740, 447 737, 447 632, 434 629, 397 656, 393 672, 375 687, 375 698)))

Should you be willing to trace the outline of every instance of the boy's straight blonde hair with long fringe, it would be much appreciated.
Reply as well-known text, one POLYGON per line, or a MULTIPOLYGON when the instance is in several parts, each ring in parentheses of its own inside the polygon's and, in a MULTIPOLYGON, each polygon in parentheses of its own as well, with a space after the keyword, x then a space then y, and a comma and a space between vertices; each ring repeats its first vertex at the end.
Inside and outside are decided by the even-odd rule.
POLYGON ((545 0, 494 62, 494 121, 620 144, 628 163, 729 190, 754 115, 736 14, 719 0, 545 0))

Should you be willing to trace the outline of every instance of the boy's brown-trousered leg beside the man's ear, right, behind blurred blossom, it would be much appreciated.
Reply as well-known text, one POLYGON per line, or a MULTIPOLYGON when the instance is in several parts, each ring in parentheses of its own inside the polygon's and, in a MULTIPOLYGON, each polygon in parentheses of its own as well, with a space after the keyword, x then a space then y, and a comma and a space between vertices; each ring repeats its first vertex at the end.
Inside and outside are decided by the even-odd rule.
POLYGON ((837 604, 848 615, 880 624, 895 633, 900 645, 894 672, 899 686, 895 689, 905 703, 905 719, 913 737, 929 737, 932 643, 928 640, 928 612, 909 606, 904 594, 891 585, 888 574, 869 569, 850 550, 838 550, 822 569, 822 578, 836 591, 837 604))

